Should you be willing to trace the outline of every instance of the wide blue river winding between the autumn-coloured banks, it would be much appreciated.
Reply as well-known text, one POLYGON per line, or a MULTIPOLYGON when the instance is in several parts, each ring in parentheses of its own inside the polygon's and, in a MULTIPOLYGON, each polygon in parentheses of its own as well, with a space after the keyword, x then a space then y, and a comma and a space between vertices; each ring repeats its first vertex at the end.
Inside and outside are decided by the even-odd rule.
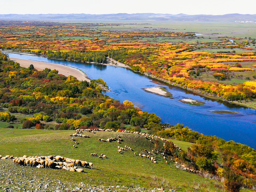
POLYGON ((102 78, 110 87, 109 97, 121 102, 130 100, 143 111, 155 113, 163 123, 184 124, 205 135, 216 135, 226 141, 234 140, 256 149, 256 110, 228 102, 204 98, 179 87, 155 81, 133 71, 120 67, 103 66, 52 60, 35 55, 9 53, 10 58, 57 63, 84 71, 91 79, 102 78), (145 92, 143 88, 163 86, 172 93, 172 98, 145 92), (187 105, 180 99, 194 99, 205 102, 202 106, 187 105), (232 110, 237 114, 215 114, 210 110, 232 110))

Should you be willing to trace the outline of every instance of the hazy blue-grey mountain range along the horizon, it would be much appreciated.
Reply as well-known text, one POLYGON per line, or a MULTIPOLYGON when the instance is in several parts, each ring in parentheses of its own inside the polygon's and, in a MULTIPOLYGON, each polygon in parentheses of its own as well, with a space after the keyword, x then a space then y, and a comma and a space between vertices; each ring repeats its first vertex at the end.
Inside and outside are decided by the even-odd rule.
POLYGON ((72 22, 256 22, 256 14, 187 15, 155 13, 118 14, 0 14, 0 20, 72 22))

